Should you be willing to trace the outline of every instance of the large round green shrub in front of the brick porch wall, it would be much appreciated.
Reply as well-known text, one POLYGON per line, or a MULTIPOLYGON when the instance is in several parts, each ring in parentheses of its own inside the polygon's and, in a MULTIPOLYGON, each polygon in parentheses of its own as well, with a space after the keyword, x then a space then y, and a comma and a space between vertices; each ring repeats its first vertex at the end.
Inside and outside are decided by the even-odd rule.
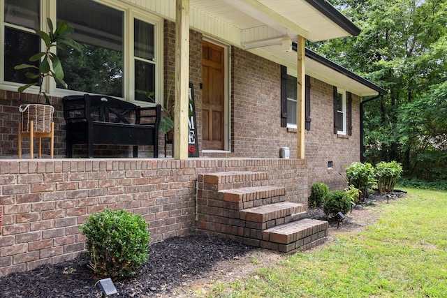
POLYGON ((87 218, 80 230, 87 237, 89 267, 98 276, 133 276, 147 261, 150 234, 139 214, 105 209, 87 218))

